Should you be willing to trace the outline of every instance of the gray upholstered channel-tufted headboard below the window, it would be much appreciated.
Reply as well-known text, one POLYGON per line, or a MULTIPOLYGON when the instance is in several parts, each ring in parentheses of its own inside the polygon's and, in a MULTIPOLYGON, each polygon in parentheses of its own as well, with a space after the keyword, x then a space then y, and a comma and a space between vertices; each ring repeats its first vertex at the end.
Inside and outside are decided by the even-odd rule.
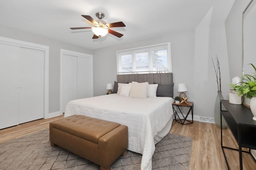
POLYGON ((118 74, 117 82, 148 82, 149 84, 171 84, 173 83, 172 72, 168 73, 149 73, 149 74, 118 74))

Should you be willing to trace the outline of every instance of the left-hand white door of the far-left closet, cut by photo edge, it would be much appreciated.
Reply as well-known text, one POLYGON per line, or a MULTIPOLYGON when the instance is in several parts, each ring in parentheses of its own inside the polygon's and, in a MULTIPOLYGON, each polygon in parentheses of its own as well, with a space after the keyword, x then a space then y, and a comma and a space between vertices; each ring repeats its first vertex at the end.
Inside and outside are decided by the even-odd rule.
POLYGON ((20 47, 0 44, 0 129, 18 125, 20 47))

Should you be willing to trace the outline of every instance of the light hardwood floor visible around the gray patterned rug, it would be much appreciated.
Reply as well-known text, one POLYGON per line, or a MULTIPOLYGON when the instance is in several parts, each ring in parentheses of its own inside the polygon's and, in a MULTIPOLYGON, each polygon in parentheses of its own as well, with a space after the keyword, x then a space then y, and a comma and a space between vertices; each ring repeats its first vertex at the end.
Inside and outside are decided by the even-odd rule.
MULTIPOLYGON (((50 119, 39 119, 14 127, 0 130, 0 143, 21 137, 49 127, 49 122, 64 117, 60 115, 50 119)), ((181 125, 173 121, 170 133, 193 138, 190 170, 227 170, 220 145, 220 129, 211 123, 194 121, 193 124, 181 125)), ((223 129, 223 145, 238 148, 237 143, 227 129, 223 129)), ((226 155, 231 170, 239 169, 238 151, 227 150, 226 155)), ((243 153, 244 170, 256 170, 256 163, 250 154, 243 153)))

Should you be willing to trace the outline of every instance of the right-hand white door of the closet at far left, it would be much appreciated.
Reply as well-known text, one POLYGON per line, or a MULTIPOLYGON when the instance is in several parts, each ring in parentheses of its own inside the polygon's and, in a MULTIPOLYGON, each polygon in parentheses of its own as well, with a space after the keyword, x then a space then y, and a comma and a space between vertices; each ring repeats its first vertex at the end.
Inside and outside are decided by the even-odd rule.
POLYGON ((44 117, 44 51, 20 47, 19 123, 44 117))

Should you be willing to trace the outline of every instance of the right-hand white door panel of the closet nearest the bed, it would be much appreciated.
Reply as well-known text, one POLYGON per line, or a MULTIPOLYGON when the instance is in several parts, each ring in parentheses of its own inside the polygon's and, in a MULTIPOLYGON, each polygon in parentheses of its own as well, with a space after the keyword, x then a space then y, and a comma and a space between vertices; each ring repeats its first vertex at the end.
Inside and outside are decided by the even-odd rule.
POLYGON ((77 57, 77 99, 91 97, 92 58, 77 57))

